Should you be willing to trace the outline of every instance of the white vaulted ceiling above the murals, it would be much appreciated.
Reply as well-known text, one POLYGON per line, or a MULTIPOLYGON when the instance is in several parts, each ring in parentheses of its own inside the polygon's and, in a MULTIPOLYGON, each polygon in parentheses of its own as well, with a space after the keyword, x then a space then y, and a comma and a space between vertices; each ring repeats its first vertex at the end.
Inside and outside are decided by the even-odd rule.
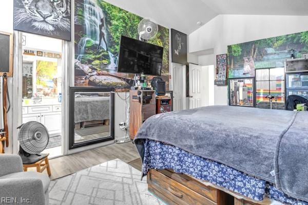
POLYGON ((105 0, 186 34, 219 14, 308 15, 308 0, 105 0))

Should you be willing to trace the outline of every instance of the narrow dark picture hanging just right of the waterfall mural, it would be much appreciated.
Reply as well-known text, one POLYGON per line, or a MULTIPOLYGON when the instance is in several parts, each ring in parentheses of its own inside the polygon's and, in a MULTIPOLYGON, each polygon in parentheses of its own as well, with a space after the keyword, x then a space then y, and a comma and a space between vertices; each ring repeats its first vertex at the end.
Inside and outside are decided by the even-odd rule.
POLYGON ((175 29, 171 29, 171 60, 187 65, 187 35, 175 29))

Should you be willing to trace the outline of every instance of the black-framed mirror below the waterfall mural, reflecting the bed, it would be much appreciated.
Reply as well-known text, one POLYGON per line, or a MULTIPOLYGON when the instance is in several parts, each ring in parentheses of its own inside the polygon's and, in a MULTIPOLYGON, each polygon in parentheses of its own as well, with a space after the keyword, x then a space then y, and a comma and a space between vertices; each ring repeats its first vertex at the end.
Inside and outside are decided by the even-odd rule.
POLYGON ((70 88, 70 149, 114 139, 113 91, 70 88))

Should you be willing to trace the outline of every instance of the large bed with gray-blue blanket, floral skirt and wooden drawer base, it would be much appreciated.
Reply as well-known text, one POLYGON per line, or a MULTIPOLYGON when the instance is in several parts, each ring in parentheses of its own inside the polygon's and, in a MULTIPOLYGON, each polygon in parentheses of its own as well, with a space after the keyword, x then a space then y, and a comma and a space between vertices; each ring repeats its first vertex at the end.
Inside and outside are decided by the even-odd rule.
MULTIPOLYGON (((307 112, 210 106, 153 116, 134 144, 149 190, 169 203, 182 204, 175 200, 185 196, 183 204, 190 204, 183 190, 159 191, 163 181, 177 181, 183 173, 220 195, 232 194, 236 204, 307 205, 307 125, 307 112), (152 176, 161 179, 152 183, 152 176)), ((200 204, 233 204, 220 201, 200 204)))

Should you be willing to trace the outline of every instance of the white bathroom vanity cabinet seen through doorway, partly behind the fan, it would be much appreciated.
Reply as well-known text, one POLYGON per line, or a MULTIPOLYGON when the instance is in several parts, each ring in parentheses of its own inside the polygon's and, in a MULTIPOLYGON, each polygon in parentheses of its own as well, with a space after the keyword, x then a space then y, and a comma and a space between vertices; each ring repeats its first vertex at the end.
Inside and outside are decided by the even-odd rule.
POLYGON ((47 128, 50 136, 61 135, 61 105, 23 107, 23 111, 23 123, 28 121, 41 122, 47 128))

